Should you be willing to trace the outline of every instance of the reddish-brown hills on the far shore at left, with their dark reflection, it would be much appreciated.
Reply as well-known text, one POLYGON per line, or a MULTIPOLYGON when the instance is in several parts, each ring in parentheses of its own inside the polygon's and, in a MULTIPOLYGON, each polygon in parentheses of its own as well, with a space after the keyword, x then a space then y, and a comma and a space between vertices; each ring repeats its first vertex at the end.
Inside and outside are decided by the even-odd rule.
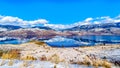
POLYGON ((59 32, 55 30, 43 30, 39 28, 17 29, 11 31, 4 31, 0 33, 0 37, 12 37, 15 39, 49 39, 55 36, 71 35, 66 32, 59 32))

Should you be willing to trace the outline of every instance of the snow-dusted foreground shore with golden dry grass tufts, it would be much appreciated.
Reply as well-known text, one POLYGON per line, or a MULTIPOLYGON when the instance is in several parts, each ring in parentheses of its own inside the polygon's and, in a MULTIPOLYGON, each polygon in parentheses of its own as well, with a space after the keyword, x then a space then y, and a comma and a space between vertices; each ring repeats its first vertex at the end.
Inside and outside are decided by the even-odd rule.
POLYGON ((22 66, 21 68, 31 67, 36 60, 38 61, 34 64, 34 68, 37 68, 36 66, 41 61, 50 61, 54 63, 54 65, 59 65, 59 63, 62 62, 64 65, 60 64, 60 66, 65 66, 67 64, 66 66, 68 66, 68 68, 69 64, 88 65, 96 68, 113 68, 114 64, 120 65, 120 45, 55 48, 48 46, 44 42, 31 41, 29 43, 20 44, 19 46, 1 45, 0 50, 1 58, 4 59, 0 63, 1 66, 7 66, 8 59, 11 59, 11 61, 8 61, 8 65, 12 67, 16 65, 15 59, 24 61, 21 64, 19 64, 20 61, 17 61, 17 67, 22 66))

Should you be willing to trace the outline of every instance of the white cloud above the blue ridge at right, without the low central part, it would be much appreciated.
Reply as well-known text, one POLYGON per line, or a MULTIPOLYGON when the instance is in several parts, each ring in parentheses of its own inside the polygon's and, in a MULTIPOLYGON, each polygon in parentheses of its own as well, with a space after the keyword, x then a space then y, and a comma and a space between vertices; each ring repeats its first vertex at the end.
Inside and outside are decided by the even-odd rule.
POLYGON ((102 24, 102 23, 117 23, 120 22, 120 15, 118 15, 115 18, 111 18, 109 16, 103 16, 103 17, 96 17, 96 18, 86 18, 84 21, 79 21, 75 24, 76 25, 90 25, 90 24, 102 24))

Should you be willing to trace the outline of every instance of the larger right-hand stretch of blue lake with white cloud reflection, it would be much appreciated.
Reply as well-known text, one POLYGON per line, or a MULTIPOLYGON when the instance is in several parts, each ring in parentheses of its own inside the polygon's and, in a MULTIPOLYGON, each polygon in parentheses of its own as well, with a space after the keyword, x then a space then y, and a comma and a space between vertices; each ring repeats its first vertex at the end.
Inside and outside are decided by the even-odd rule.
POLYGON ((70 36, 70 37, 55 37, 45 41, 51 46, 92 46, 96 44, 120 44, 120 36, 70 36))

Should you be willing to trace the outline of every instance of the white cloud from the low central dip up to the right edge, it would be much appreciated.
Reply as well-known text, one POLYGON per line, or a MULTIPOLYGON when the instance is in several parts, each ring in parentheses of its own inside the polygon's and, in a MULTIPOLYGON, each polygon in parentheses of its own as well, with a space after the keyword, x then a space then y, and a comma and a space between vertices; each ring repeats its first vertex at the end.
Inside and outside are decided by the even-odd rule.
POLYGON ((111 18, 109 16, 103 16, 103 17, 96 17, 96 18, 86 18, 84 21, 79 21, 74 24, 69 24, 69 25, 62 25, 62 24, 44 24, 44 26, 51 27, 53 29, 66 29, 66 28, 71 28, 75 26, 80 26, 80 25, 90 25, 90 24, 102 24, 102 23, 116 23, 120 22, 120 15, 111 18))

